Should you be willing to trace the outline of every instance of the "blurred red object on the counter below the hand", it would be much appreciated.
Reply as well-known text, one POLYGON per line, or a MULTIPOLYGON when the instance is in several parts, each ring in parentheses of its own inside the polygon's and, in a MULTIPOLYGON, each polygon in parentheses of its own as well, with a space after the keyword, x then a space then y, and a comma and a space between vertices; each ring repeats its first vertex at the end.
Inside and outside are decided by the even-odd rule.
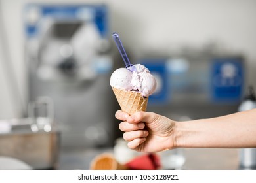
POLYGON ((160 157, 156 154, 143 154, 125 164, 130 170, 157 170, 161 167, 160 157))

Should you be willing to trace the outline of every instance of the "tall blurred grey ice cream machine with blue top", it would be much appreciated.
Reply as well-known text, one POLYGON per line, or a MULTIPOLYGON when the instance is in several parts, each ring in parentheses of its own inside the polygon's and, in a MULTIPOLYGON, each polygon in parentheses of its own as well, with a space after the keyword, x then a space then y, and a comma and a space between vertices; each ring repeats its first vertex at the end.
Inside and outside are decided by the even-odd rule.
POLYGON ((108 7, 28 4, 24 28, 29 100, 53 100, 61 145, 112 144, 108 7))

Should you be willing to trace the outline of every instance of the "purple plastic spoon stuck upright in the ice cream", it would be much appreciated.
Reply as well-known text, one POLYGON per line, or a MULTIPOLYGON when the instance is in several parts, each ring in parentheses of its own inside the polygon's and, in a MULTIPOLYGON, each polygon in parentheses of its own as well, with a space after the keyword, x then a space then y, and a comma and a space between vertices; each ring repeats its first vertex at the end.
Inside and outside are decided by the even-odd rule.
POLYGON ((129 61, 129 58, 125 52, 125 48, 123 48, 123 44, 119 38, 118 33, 114 32, 112 34, 112 37, 114 38, 114 41, 116 42, 116 46, 119 50, 119 53, 121 54, 121 57, 123 58, 123 61, 125 62, 125 68, 129 69, 131 72, 136 71, 136 68, 133 64, 129 61))

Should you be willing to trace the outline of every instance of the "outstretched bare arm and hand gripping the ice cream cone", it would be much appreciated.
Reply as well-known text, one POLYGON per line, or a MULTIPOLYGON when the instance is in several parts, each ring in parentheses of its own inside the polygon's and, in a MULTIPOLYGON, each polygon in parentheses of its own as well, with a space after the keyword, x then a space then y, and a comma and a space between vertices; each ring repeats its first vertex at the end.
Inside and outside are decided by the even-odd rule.
POLYGON ((129 116, 121 110, 119 129, 131 149, 160 152, 173 148, 256 148, 256 109, 216 118, 176 122, 153 112, 129 116))

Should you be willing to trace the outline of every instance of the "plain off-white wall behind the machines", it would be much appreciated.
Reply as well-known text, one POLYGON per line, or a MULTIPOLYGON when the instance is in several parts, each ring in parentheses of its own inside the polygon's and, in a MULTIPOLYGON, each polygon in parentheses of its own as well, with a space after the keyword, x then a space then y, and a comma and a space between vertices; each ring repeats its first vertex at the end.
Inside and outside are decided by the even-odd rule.
MULTIPOLYGON (((110 31, 122 35, 125 47, 135 58, 148 50, 166 53, 184 44, 200 48, 212 40, 221 42, 228 50, 245 55, 247 82, 256 87, 254 0, 0 1, 22 101, 26 101, 27 84, 21 15, 27 2, 106 3, 110 7, 110 31)), ((9 76, 3 71, 4 64, 5 58, 0 50, 0 118, 18 117, 21 104, 11 94, 9 76)))

